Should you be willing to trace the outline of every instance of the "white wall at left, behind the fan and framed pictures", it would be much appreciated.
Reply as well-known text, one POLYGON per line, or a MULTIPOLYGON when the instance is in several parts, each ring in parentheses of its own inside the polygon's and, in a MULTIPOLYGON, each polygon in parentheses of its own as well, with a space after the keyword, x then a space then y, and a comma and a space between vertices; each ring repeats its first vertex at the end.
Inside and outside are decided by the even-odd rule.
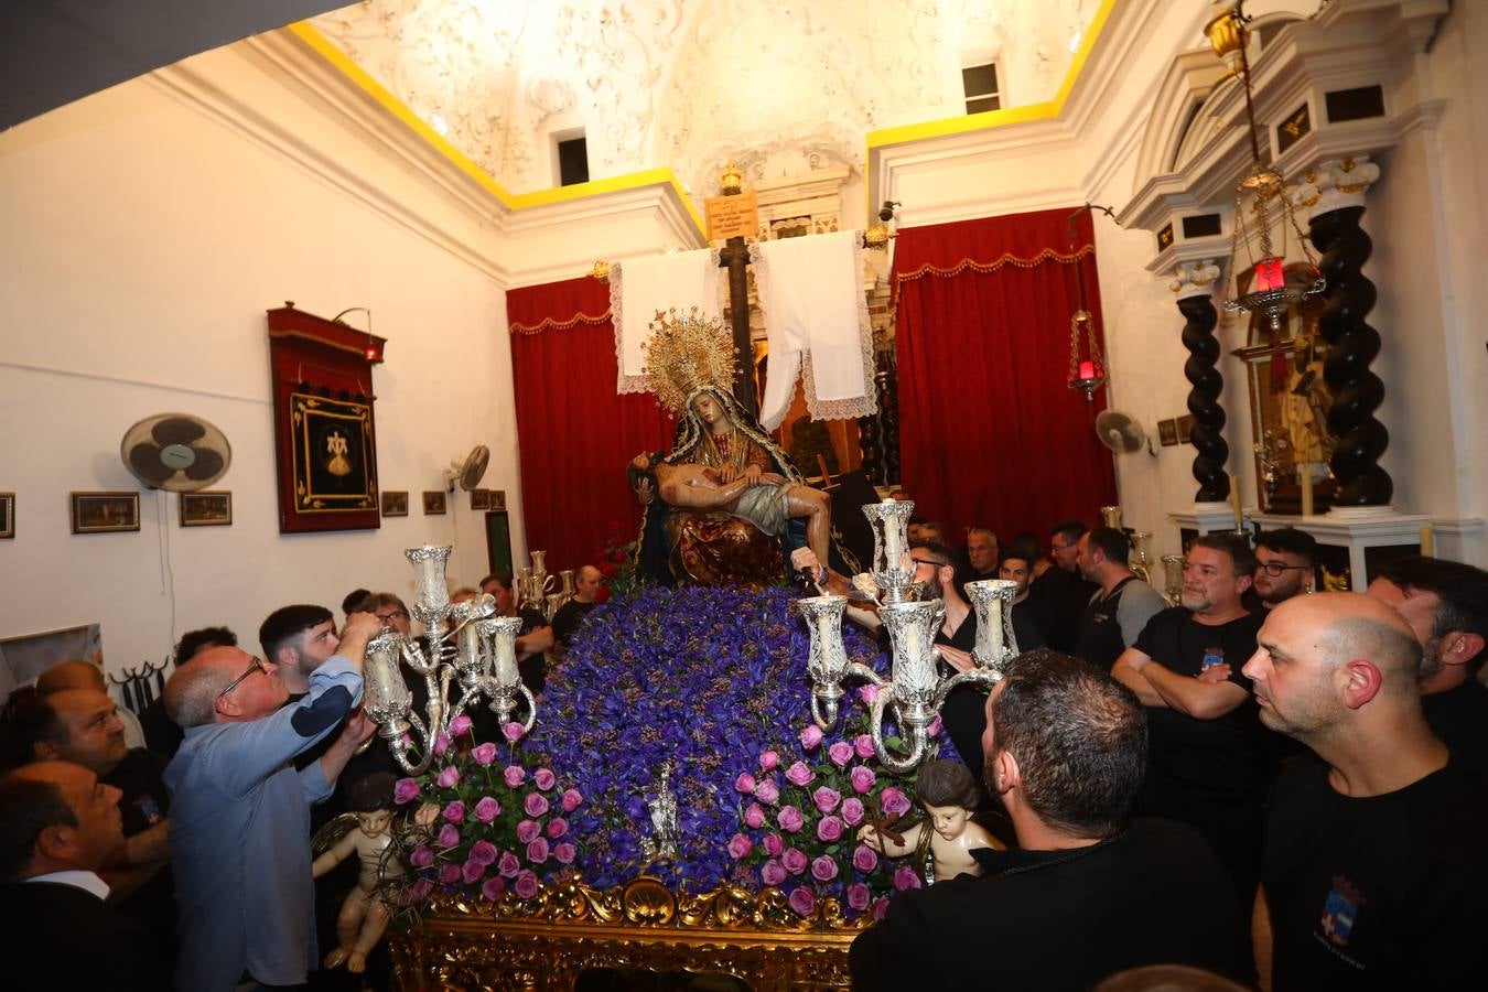
MULTIPOLYGON (((521 540, 503 287, 378 195, 421 204, 430 223, 448 222, 434 216, 446 204, 240 52, 189 64, 208 83, 251 83, 231 95, 274 103, 281 137, 305 144, 244 125, 253 115, 225 117, 196 98, 211 86, 159 80, 0 134, 0 489, 18 503, 16 537, 0 541, 0 637, 101 622, 110 669, 159 660, 201 625, 226 623, 253 645, 287 602, 338 608, 357 586, 406 593, 402 550, 426 541, 455 541, 451 577, 479 579, 484 531, 467 498, 451 497, 449 516, 418 507, 478 442, 493 451, 484 485, 507 491, 521 540), (411 516, 278 534, 263 311, 286 299, 326 317, 372 309, 388 339, 372 373, 379 476, 411 491, 411 516), (234 494, 232 526, 180 528, 176 497, 146 491, 138 534, 71 535, 68 491, 138 489, 119 439, 165 410, 231 439, 217 486, 234 494)), ((478 219, 448 223, 491 248, 478 219)))

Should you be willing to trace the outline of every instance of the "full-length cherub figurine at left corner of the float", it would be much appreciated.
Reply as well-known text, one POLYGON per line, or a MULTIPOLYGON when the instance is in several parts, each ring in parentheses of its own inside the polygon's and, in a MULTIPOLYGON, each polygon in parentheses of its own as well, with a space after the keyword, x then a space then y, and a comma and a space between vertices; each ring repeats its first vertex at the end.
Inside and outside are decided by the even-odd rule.
POLYGON ((397 852, 390 849, 394 782, 391 772, 375 772, 353 784, 348 790, 348 805, 357 825, 311 864, 311 873, 318 879, 353 852, 362 861, 356 888, 347 894, 336 916, 336 937, 341 946, 326 955, 323 962, 326 968, 336 968, 344 962, 347 971, 363 973, 368 953, 382 938, 387 921, 393 915, 379 886, 384 879, 403 873, 397 852))

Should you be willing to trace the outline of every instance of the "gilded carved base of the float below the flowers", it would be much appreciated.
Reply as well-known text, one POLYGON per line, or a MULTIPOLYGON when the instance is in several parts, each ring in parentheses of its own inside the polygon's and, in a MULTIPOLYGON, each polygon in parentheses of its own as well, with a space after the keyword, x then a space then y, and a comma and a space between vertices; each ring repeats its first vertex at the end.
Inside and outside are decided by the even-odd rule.
POLYGON ((527 901, 439 898, 388 934, 399 988, 568 992, 595 970, 732 976, 744 988, 847 989, 865 921, 835 900, 801 918, 777 889, 673 894, 637 877, 595 891, 559 883, 527 901))

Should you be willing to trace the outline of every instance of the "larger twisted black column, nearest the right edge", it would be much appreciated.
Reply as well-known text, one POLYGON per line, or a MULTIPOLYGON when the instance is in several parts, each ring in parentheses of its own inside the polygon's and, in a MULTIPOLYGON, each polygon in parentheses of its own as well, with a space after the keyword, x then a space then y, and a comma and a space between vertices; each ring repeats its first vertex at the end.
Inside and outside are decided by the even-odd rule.
POLYGON ((1390 473, 1379 455, 1390 445, 1390 431, 1375 419, 1385 399, 1385 384, 1369 370, 1379 354, 1379 332, 1364 317, 1375 306, 1375 284, 1364 278, 1373 242, 1359 226, 1363 207, 1342 207, 1312 217, 1309 236, 1323 253, 1318 268, 1327 280, 1327 305, 1318 317, 1318 333, 1327 342, 1323 381, 1333 390, 1327 430, 1338 439, 1333 449, 1335 506, 1388 506, 1394 494, 1390 473))

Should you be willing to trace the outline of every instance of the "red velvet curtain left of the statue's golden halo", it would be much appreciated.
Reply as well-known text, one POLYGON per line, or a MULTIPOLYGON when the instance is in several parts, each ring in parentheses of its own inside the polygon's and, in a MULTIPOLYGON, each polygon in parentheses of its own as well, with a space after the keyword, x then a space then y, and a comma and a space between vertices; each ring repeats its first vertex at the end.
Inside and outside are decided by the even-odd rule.
POLYGON ((640 504, 625 464, 671 446, 673 421, 650 393, 615 393, 610 287, 583 277, 510 290, 512 379, 527 546, 549 571, 595 562, 612 524, 625 540, 640 504))

